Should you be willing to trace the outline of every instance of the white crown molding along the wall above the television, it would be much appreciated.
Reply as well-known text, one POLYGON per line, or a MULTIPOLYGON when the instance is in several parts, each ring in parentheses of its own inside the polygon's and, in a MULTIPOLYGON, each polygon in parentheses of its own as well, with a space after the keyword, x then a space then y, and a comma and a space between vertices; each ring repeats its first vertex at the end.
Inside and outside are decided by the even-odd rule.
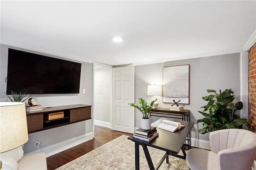
POLYGON ((35 46, 35 45, 29 45, 29 44, 26 44, 26 43, 10 41, 10 40, 6 40, 6 39, 3 39, 3 38, 0 39, 0 43, 5 44, 5 45, 10 45, 10 46, 13 46, 13 47, 19 47, 19 48, 23 48, 23 49, 28 49, 28 50, 32 50, 32 51, 41 52, 41 53, 46 53, 46 54, 50 54, 50 55, 56 55, 58 57, 74 59, 76 61, 82 61, 82 62, 86 62, 86 63, 93 63, 93 61, 91 61, 91 60, 87 60, 87 59, 84 59, 84 58, 81 58, 81 57, 76 57, 74 55, 60 53, 58 51, 53 51, 53 50, 38 47, 38 46, 35 46))

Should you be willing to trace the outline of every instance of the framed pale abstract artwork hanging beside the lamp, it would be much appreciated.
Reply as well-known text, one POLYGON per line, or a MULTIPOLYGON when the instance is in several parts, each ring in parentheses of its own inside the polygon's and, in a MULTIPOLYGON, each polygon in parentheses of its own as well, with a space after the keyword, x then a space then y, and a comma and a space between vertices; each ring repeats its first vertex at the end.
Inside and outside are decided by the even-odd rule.
POLYGON ((163 103, 189 104, 189 65, 163 67, 163 103))

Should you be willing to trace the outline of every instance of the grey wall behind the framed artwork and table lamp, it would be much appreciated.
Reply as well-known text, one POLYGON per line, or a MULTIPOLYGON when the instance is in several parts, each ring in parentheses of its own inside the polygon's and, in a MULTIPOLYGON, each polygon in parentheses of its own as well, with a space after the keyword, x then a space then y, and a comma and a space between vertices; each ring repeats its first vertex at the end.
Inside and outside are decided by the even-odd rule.
MULTIPOLYGON (((198 119, 203 118, 198 113, 202 111, 200 107, 207 104, 202 97, 210 94, 207 89, 232 89, 237 97, 235 100, 240 101, 239 53, 135 66, 135 101, 138 103, 139 97, 152 101, 152 96, 147 96, 147 85, 162 85, 163 67, 186 64, 190 65, 190 104, 184 105, 184 109, 190 110, 190 121, 195 123, 191 131, 192 138, 209 140, 208 134, 198 133, 202 123, 196 124, 198 119)), ((170 107, 170 103, 162 103, 162 97, 157 98, 159 108, 170 107)), ((141 113, 136 109, 135 127, 140 127, 140 117, 141 113)))

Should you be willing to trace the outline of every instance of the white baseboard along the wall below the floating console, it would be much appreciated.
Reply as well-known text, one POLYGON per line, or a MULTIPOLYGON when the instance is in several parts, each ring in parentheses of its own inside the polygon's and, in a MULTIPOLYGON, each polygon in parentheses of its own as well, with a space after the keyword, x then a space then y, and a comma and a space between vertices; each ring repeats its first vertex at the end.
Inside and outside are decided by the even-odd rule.
MULTIPOLYGON (((92 138, 93 138, 93 134, 92 134, 92 132, 89 132, 89 133, 86 133, 81 136, 77 136, 77 137, 74 137, 74 138, 71 138, 71 139, 50 145, 50 146, 46 146, 44 148, 40 148, 39 152, 44 152, 46 154, 46 157, 48 157, 48 156, 54 155, 58 152, 61 152, 63 150, 66 150, 68 148, 71 148, 73 146, 76 146, 78 144, 81 144, 83 142, 86 142, 92 138)), ((35 150, 32 152, 28 152, 28 153, 24 154, 24 156, 29 155, 29 154, 35 154, 35 153, 38 153, 38 151, 35 150)))

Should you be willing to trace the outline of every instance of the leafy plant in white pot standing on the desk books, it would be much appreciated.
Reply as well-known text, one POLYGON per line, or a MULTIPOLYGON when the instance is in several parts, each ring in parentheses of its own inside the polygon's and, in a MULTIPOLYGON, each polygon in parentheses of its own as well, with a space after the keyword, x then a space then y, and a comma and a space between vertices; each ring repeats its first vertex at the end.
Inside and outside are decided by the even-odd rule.
POLYGON ((129 103, 130 106, 137 108, 139 111, 141 111, 143 117, 140 119, 140 126, 144 130, 149 130, 151 128, 151 118, 148 117, 153 104, 156 102, 156 100, 151 101, 150 105, 148 105, 148 102, 146 102, 142 98, 138 98, 138 103, 140 105, 136 105, 135 103, 129 103))

